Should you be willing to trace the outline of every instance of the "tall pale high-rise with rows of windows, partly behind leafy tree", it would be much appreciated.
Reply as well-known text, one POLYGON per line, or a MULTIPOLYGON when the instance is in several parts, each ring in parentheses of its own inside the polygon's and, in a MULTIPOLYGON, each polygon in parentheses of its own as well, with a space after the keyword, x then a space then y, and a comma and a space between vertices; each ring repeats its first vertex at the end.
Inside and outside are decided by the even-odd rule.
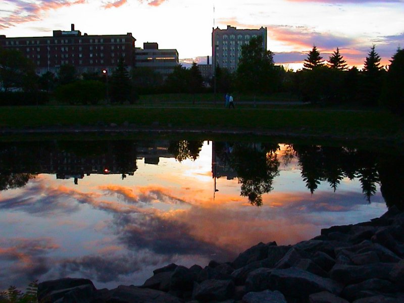
POLYGON ((226 29, 214 28, 212 31, 212 66, 227 68, 234 72, 241 57, 241 46, 248 44, 253 37, 262 36, 263 48, 267 49, 267 28, 237 29, 228 25, 226 29))

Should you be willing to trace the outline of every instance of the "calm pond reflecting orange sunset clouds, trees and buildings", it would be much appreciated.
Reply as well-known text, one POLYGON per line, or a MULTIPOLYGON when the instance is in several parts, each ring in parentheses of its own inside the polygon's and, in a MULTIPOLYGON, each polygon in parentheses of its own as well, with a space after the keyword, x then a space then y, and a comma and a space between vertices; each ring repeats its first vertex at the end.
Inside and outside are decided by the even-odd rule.
POLYGON ((137 285, 172 262, 306 240, 382 215, 402 163, 263 142, 0 143, 0 290, 66 276, 137 285))

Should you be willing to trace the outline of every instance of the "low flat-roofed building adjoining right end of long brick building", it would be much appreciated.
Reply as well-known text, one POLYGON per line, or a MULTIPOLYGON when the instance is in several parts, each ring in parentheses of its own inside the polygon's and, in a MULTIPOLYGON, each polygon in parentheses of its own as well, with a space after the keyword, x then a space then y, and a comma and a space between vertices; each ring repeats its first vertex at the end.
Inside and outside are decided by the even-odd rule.
POLYGON ((159 49, 156 42, 143 43, 143 49, 136 47, 136 67, 147 67, 167 76, 178 65, 177 49, 159 49))

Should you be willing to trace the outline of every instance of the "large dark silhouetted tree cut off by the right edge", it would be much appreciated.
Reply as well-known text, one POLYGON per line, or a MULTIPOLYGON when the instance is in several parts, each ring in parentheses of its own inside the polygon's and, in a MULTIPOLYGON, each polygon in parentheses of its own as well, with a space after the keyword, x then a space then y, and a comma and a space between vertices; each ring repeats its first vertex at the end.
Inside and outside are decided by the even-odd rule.
POLYGON ((383 92, 383 104, 394 113, 404 114, 404 49, 398 49, 391 59, 383 92))

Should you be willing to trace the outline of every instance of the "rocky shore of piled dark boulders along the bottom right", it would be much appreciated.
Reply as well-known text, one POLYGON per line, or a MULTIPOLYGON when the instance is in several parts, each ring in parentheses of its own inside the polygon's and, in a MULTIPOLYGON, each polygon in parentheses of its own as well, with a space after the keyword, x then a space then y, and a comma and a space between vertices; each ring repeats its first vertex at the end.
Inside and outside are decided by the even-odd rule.
POLYGON ((141 286, 96 289, 88 279, 38 286, 39 302, 404 302, 404 213, 395 207, 355 225, 333 226, 294 245, 259 243, 233 262, 170 264, 141 286))

